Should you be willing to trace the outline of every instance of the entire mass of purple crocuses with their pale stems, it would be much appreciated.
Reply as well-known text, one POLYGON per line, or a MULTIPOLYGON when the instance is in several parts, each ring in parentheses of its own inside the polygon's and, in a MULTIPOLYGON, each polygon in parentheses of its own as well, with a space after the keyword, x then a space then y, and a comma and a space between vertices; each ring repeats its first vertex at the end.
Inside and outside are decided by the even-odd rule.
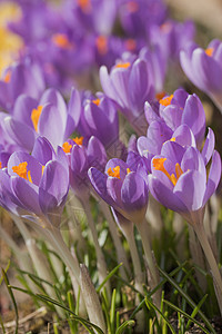
MULTIPOLYGON (((118 261, 124 264, 122 277, 134 278, 143 295, 144 284, 155 288, 160 283, 147 222, 149 196, 153 197, 195 230, 222 313, 222 278, 203 227, 206 203, 221 179, 214 132, 209 128, 205 138, 205 112, 195 94, 182 88, 171 95, 162 91, 170 59, 179 60, 182 47, 192 40, 192 23, 170 20, 162 1, 154 0, 67 0, 59 10, 44 1, 18 2, 22 17, 9 27, 23 38, 26 50, 0 81, 0 205, 51 243, 74 275, 77 297, 90 278, 82 279, 85 268, 70 253, 59 229, 64 206, 67 212, 71 207, 70 191, 85 213, 101 284, 108 264, 91 213, 94 197, 109 222, 118 261), (124 38, 112 36, 117 18, 124 38), (41 26, 38 33, 37 26, 41 26), (94 65, 102 65, 97 78, 91 69, 94 65), (82 71, 89 73, 89 68, 102 92, 94 94, 94 86, 93 92, 71 88, 70 80, 82 71), (70 98, 58 87, 63 92, 69 87, 70 98), (131 136, 132 129, 137 136, 131 136), (129 243, 133 277, 113 219, 129 243), (134 226, 141 236, 144 266, 134 226)), ((206 50, 190 45, 180 56, 188 77, 219 105, 220 51, 221 42, 214 40, 206 50)), ((109 282, 105 287, 109 295, 109 282)), ((93 321, 92 305, 85 292, 82 295, 93 321)), ((153 301, 160 306, 159 293, 153 301)), ((101 315, 99 318, 104 328, 101 315)))

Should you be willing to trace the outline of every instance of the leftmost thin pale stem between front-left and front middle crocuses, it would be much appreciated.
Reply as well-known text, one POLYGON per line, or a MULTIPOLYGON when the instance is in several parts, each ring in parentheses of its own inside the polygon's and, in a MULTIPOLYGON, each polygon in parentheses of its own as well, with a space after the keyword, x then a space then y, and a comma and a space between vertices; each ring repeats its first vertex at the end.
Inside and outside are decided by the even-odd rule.
MULTIPOLYGON (((98 272, 99 272, 99 282, 101 284, 104 281, 104 278, 108 276, 107 264, 105 264, 104 255, 102 253, 102 249, 101 249, 99 240, 98 240, 98 232, 97 232, 95 224, 93 222, 93 217, 91 214, 89 200, 85 199, 85 200, 82 200, 81 203, 82 203, 82 207, 85 212, 88 224, 89 224, 89 227, 90 227, 90 230, 92 234, 93 245, 94 245, 95 253, 97 253, 97 266, 98 266, 98 272)), ((108 288, 108 293, 110 295, 111 287, 110 287, 109 281, 107 282, 105 287, 108 288)))

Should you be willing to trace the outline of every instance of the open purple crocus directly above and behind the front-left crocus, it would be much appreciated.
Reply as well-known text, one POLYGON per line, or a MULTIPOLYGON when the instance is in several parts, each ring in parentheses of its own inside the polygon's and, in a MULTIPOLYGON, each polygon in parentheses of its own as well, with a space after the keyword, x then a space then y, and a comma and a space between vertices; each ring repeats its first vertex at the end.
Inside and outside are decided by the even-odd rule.
POLYGON ((4 118, 7 134, 21 148, 31 151, 38 136, 44 136, 54 148, 62 146, 74 131, 80 119, 80 96, 73 89, 65 105, 62 96, 53 88, 46 90, 40 101, 21 95, 12 116, 4 118))

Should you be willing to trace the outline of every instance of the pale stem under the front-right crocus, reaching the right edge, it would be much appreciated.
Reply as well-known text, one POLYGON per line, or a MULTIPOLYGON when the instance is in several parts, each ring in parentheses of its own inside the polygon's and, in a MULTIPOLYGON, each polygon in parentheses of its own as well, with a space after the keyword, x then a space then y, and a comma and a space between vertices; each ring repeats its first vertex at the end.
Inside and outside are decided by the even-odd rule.
POLYGON ((215 257, 213 255, 213 252, 211 249, 211 246, 209 244, 209 240, 205 236, 203 224, 193 225, 193 228, 196 233, 196 236, 201 243, 201 246, 202 246, 205 257, 208 259, 208 263, 209 263, 212 276, 213 276, 213 281, 214 281, 219 307, 220 307, 220 311, 222 314, 222 277, 221 277, 221 273, 219 271, 219 267, 218 267, 215 257))

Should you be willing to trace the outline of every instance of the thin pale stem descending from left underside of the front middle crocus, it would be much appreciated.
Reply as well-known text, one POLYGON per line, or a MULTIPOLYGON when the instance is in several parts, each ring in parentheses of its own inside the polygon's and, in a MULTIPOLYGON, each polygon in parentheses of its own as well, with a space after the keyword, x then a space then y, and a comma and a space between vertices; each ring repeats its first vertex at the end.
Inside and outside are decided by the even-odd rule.
MULTIPOLYGON (((113 217, 110 213, 110 208, 107 205, 107 203, 104 203, 104 202, 100 202, 100 207, 101 207, 101 209, 104 214, 104 217, 105 217, 105 219, 108 220, 108 224, 109 224, 110 234, 111 234, 113 244, 114 244, 115 249, 117 249, 118 263, 123 263, 124 268, 127 269, 128 274, 130 274, 130 265, 129 265, 129 262, 128 262, 128 258, 127 258, 127 254, 125 254, 125 250, 124 250, 124 248, 121 244, 120 237, 118 235, 117 224, 113 220, 113 217)), ((124 268, 120 267, 120 273, 121 273, 121 276, 122 276, 123 279, 128 279, 128 276, 125 274, 124 268)))

